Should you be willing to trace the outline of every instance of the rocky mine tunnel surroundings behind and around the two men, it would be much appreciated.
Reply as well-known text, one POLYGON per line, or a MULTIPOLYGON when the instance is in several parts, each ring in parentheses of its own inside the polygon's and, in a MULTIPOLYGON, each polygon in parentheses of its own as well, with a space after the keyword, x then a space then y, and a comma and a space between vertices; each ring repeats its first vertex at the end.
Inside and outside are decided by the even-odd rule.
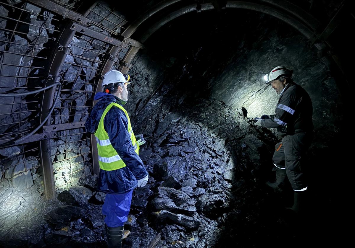
POLYGON ((353 10, 340 0, 0 1, 0 247, 107 247, 84 123, 110 70, 130 75, 124 108, 149 173, 122 247, 342 246, 353 10), (285 209, 290 182, 266 185, 277 131, 253 122, 275 113, 263 76, 280 65, 313 105, 298 214, 285 209))

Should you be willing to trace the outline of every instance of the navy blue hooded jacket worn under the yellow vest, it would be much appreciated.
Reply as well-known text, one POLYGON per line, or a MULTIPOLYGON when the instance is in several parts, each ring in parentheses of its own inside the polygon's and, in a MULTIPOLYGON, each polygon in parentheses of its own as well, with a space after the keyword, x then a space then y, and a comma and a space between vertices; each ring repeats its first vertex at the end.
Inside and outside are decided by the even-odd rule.
MULTIPOLYGON (((111 102, 124 104, 119 98, 102 92, 97 93, 94 100, 99 100, 99 102, 93 107, 85 123, 86 131, 89 133, 94 133, 97 130, 101 116, 111 102)), ((148 173, 132 145, 126 114, 121 109, 112 107, 104 118, 104 127, 111 145, 126 167, 110 171, 100 169, 97 189, 110 194, 126 193, 136 188, 137 180, 143 179, 148 173)))

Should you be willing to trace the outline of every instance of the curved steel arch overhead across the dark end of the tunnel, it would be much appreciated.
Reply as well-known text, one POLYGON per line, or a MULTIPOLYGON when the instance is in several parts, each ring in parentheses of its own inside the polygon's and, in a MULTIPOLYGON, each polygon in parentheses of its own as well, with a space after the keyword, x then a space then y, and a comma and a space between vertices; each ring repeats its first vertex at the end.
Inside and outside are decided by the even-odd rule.
MULTIPOLYGON (((138 40, 144 43, 154 32, 156 32, 159 28, 164 26, 164 24, 172 21, 173 19, 180 17, 186 13, 190 13, 193 11, 200 12, 200 11, 208 11, 214 10, 215 6, 212 3, 206 3, 196 5, 187 5, 184 7, 180 7, 176 10, 176 7, 169 6, 177 6, 176 3, 180 2, 179 0, 170 0, 166 2, 162 2, 160 4, 155 5, 151 10, 145 12, 142 16, 140 16, 135 22, 133 22, 127 29, 122 33, 122 35, 126 35, 127 37, 134 36, 139 30, 140 26, 143 26, 146 23, 149 23, 149 19, 151 17, 160 15, 159 21, 149 24, 147 26, 147 30, 143 31, 138 34, 138 40), (169 11, 164 11, 169 9, 169 11)), ((340 7, 340 9, 343 6, 340 7)), ((281 21, 289 24, 295 30, 300 32, 309 42, 309 45, 314 45, 320 53, 325 55, 323 60, 326 62, 327 67, 329 69, 334 69, 329 64, 331 61, 332 64, 335 64, 338 68, 338 74, 341 74, 340 77, 344 78, 345 81, 349 80, 349 75, 346 73, 344 69, 344 62, 339 59, 339 56, 334 52, 334 45, 331 41, 327 40, 327 36, 323 42, 318 43, 318 38, 320 38, 320 29, 322 28, 321 22, 319 22, 315 17, 313 17, 307 11, 301 9, 301 7, 292 4, 288 1, 278 1, 278 0, 261 0, 260 3, 255 2, 248 2, 248 1, 226 1, 225 6, 223 9, 245 9, 245 10, 252 10, 257 11, 260 13, 265 13, 266 15, 273 16, 275 18, 280 19, 281 21), (327 53, 327 54, 326 54, 327 53)), ((329 24, 330 25, 330 24, 329 24)), ((329 32, 329 30, 328 30, 329 32)), ((325 33, 325 30, 324 32, 325 33)), ((331 33, 331 32, 330 32, 331 33)), ((328 33, 328 35, 330 35, 328 33)), ((133 57, 137 54, 138 49, 132 47, 130 51, 127 53, 127 56, 124 60, 127 63, 131 63, 133 57)), ((125 66, 120 66, 119 70, 123 73, 128 72, 128 68, 125 66)), ((344 96, 346 100, 346 95, 348 95, 347 86, 343 84, 338 84, 340 87, 341 94, 344 96)))

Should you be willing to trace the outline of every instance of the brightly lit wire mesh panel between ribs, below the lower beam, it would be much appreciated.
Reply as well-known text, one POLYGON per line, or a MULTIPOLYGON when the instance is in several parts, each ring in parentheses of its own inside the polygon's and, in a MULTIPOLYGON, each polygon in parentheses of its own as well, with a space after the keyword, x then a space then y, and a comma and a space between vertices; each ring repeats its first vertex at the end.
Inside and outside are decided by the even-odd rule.
POLYGON ((56 190, 75 186, 92 174, 90 140, 82 128, 58 132, 50 144, 56 190))

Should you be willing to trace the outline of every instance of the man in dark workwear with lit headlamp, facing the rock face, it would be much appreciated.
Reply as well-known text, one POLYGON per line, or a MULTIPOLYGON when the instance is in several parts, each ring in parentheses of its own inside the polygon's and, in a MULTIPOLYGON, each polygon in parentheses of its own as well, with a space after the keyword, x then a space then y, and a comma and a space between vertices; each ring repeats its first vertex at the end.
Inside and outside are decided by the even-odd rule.
POLYGON ((294 204, 289 208, 300 211, 307 194, 307 180, 304 169, 305 154, 313 138, 312 101, 308 93, 292 79, 293 71, 278 66, 264 76, 266 83, 280 95, 274 115, 256 118, 256 125, 277 128, 281 142, 275 145, 273 163, 276 167, 276 181, 268 183, 282 190, 285 178, 294 190, 294 204))

